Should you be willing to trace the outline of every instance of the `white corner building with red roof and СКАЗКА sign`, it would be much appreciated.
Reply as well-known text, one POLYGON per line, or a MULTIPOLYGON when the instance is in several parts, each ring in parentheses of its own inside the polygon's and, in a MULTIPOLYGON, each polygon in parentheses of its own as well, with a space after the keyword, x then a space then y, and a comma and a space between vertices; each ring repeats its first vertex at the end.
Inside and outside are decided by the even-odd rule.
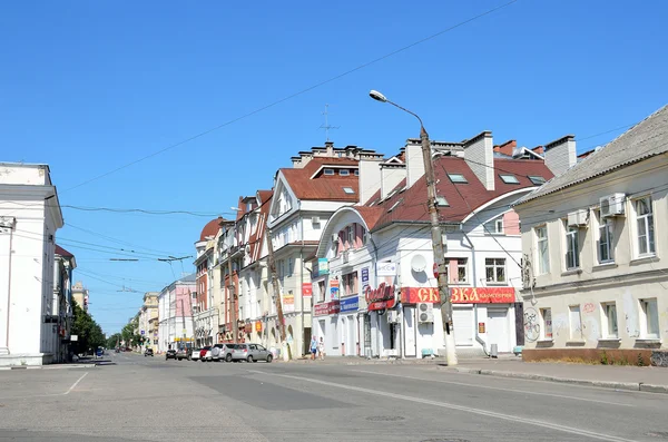
MULTIPOLYGON (((504 146, 494 147, 487 131, 432 144, 460 354, 493 344, 512 352, 521 343, 521 239, 510 205, 552 174, 539 155, 514 158, 504 146)), ((365 203, 336 210, 322 233, 313 263, 315 333, 334 355, 438 355, 444 332, 420 140, 386 161, 362 160, 360 194, 365 203)))

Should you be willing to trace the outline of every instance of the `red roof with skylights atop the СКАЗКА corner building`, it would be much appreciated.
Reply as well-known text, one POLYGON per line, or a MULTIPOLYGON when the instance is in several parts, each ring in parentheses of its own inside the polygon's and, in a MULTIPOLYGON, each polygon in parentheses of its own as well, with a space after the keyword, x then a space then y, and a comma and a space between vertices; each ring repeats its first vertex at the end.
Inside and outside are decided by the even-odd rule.
MULTIPOLYGON (((461 223, 472 210, 503 194, 524 187, 534 187, 536 185, 527 177, 529 175, 542 176, 547 180, 553 177, 550 169, 541 160, 494 158, 494 190, 487 190, 463 158, 441 157, 435 160, 436 191, 439 196, 445 197, 449 204, 448 207, 439 208, 441 220, 461 223), (448 178, 446 171, 448 174, 461 174, 469 183, 453 184, 448 178), (499 177, 499 174, 512 174, 520 184, 505 184, 499 177)), ((410 189, 397 193, 379 206, 373 207, 382 207, 383 210, 375 226, 370 226, 372 229, 377 229, 394 222, 429 222, 424 176, 410 189), (387 213, 396 202, 400 203, 392 212, 387 213)))

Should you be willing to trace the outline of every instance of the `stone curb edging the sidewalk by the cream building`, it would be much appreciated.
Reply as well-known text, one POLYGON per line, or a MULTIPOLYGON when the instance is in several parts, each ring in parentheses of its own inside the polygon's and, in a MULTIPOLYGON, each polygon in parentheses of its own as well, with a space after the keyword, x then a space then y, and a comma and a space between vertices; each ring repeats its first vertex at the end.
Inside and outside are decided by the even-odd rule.
POLYGON ((466 373, 466 374, 481 374, 488 376, 497 376, 497 377, 513 377, 513 379, 524 379, 531 381, 547 381, 547 382, 556 382, 563 384, 572 384, 572 385, 583 385, 583 386, 597 386, 600 389, 612 389, 612 390, 625 390, 625 391, 635 391, 635 392, 647 392, 647 393, 662 393, 668 394, 668 385, 655 385, 655 384, 646 384, 642 382, 609 382, 609 381, 586 381, 579 379, 570 379, 570 377, 558 377, 558 376, 548 376, 542 374, 532 374, 532 373, 518 373, 518 372, 501 372, 495 370, 484 370, 484 369, 463 369, 463 367, 439 367, 442 370, 449 370, 458 373, 466 373))

